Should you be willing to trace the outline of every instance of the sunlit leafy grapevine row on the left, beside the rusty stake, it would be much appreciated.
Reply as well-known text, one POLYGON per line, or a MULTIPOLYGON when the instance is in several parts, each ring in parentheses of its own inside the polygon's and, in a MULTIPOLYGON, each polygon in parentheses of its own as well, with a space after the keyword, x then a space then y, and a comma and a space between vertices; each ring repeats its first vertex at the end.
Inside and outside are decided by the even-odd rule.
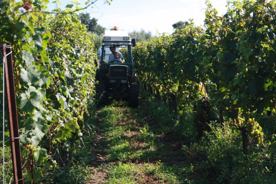
POLYGON ((53 150, 77 149, 95 94, 96 49, 86 27, 70 10, 53 10, 55 16, 40 11, 47 3, 0 3, 0 39, 13 46, 19 128, 27 132, 20 138, 21 157, 35 182, 57 166, 53 150))

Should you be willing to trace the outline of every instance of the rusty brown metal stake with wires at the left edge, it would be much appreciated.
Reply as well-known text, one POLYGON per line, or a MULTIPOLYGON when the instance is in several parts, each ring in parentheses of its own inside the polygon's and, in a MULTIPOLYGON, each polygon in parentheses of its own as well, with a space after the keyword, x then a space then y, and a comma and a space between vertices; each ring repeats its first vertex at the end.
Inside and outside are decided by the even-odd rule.
MULTIPOLYGON (((13 162, 13 180, 15 184, 23 184, 21 150, 16 108, 15 86, 13 78, 13 61, 11 45, 3 44, 3 57, 5 57, 5 85, 8 106, 8 120, 10 130, 10 148, 13 162)), ((4 94, 3 94, 4 95, 4 94)))

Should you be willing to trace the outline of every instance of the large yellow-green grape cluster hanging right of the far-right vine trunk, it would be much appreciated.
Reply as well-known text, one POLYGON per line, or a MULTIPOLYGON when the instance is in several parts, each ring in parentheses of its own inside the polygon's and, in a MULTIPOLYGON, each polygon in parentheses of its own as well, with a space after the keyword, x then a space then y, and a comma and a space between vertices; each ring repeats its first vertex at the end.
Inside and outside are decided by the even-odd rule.
POLYGON ((256 144, 263 143, 263 132, 260 132, 259 123, 255 121, 255 119, 249 118, 247 121, 247 130, 249 132, 249 136, 254 139, 256 144))

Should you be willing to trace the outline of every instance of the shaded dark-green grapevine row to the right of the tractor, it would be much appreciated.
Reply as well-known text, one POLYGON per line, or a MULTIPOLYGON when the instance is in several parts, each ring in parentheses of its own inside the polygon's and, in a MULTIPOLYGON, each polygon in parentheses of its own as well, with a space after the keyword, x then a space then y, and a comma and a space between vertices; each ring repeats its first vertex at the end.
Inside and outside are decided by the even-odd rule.
POLYGON ((228 3, 220 17, 206 2, 205 30, 191 22, 172 35, 160 34, 137 44, 133 56, 138 58, 137 79, 143 87, 158 91, 170 108, 174 105, 175 113, 182 115, 202 96, 210 98, 213 108, 220 109, 216 113, 221 125, 226 117, 241 131, 248 153, 248 138, 261 144, 263 133, 252 131, 238 116, 259 121, 266 109, 275 109, 276 5, 275 1, 228 3), (204 92, 199 92, 199 84, 204 92))

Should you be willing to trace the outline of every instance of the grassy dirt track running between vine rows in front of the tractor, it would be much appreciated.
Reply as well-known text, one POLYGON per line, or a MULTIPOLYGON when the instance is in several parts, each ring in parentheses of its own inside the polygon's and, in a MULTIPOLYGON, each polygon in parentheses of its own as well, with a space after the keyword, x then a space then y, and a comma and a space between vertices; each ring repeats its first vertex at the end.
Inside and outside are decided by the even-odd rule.
POLYGON ((87 184, 182 183, 177 169, 189 167, 190 161, 182 154, 181 141, 168 133, 150 132, 158 123, 143 113, 143 106, 133 110, 121 102, 115 108, 99 109, 97 114, 99 129, 93 138, 92 178, 87 184), (124 179, 123 172, 136 174, 124 179), (128 179, 130 182, 124 181, 128 179))

